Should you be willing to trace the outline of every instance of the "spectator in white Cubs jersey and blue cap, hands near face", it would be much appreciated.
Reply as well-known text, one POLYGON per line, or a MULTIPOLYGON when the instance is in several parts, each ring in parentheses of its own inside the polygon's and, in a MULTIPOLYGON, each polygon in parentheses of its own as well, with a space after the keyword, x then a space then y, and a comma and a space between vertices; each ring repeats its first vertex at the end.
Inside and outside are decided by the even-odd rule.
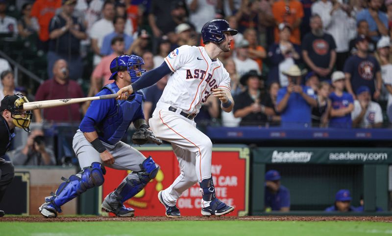
POLYGON ((357 91, 357 100, 354 101, 354 110, 351 112, 354 128, 380 128, 383 123, 383 113, 378 103, 371 101, 370 89, 360 86, 357 91))

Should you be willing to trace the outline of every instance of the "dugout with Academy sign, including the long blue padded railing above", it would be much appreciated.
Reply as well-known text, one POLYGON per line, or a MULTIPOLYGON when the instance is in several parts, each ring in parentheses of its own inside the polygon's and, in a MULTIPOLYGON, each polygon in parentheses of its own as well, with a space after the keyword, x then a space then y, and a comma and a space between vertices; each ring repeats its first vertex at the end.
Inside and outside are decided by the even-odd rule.
POLYGON ((390 129, 207 129, 214 145, 242 143, 250 147, 251 215, 266 214, 264 174, 271 169, 281 173, 282 185, 291 192, 288 215, 324 214, 340 189, 350 190, 355 207, 363 195, 365 214, 374 212, 376 206, 384 210, 381 214, 389 214, 391 134, 390 129))

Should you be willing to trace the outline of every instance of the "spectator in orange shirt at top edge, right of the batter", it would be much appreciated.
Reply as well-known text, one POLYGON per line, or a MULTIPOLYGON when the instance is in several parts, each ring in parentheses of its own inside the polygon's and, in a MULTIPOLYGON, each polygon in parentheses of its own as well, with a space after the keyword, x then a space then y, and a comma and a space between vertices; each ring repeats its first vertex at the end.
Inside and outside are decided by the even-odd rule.
POLYGON ((272 14, 276 21, 275 26, 275 43, 279 42, 280 23, 287 23, 293 29, 290 41, 295 44, 301 44, 299 25, 304 16, 302 3, 298 0, 278 0, 272 5, 272 14))

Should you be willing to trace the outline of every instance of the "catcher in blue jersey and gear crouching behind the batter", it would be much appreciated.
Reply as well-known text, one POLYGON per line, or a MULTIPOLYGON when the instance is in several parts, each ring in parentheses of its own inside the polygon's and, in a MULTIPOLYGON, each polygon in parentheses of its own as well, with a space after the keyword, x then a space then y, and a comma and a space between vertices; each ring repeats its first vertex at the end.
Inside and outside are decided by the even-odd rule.
MULTIPOLYGON (((137 81, 146 70, 141 69, 144 61, 135 55, 121 55, 110 64, 114 80, 97 94, 106 95, 117 93, 120 88, 137 81)), ((123 202, 139 193, 147 183, 155 178, 159 166, 151 157, 146 158, 142 153, 120 141, 129 125, 139 129, 134 134, 135 144, 144 144, 147 140, 161 144, 148 129, 142 110, 143 94, 136 92, 125 101, 115 99, 93 101, 80 123, 79 129, 73 136, 73 150, 79 160, 81 171, 62 178, 55 193, 45 198, 45 203, 39 207, 41 215, 56 217, 61 213, 61 206, 72 200, 87 189, 103 184, 105 167, 118 170, 131 170, 119 187, 109 193, 101 207, 118 216, 133 216, 134 209, 126 208, 123 202)))

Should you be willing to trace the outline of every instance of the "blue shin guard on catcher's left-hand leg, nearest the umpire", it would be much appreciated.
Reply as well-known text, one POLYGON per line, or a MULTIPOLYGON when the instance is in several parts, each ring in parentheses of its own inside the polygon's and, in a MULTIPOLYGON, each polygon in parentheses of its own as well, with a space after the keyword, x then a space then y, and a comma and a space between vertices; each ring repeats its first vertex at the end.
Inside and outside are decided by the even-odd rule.
POLYGON ((103 175, 106 173, 105 167, 99 162, 93 162, 90 167, 84 168, 76 175, 73 174, 69 179, 62 177, 64 183, 61 183, 56 193, 51 193, 45 199, 46 202, 51 202, 54 209, 61 213, 61 206, 69 202, 81 193, 86 192, 88 189, 101 186, 104 182, 103 175))

